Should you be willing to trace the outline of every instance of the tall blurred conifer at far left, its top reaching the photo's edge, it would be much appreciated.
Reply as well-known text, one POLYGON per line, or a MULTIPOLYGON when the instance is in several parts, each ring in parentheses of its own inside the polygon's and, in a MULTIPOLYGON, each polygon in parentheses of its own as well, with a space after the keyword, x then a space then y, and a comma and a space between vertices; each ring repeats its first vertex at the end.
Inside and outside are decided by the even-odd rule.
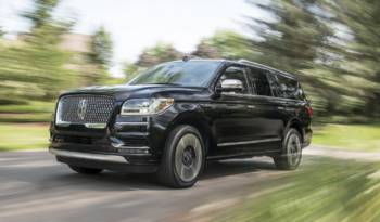
POLYGON ((21 36, 21 44, 0 53, 0 102, 50 101, 61 90, 77 86, 75 71, 67 68, 71 53, 58 47, 72 25, 52 18, 58 3, 36 0, 24 14, 33 23, 30 32, 21 36))

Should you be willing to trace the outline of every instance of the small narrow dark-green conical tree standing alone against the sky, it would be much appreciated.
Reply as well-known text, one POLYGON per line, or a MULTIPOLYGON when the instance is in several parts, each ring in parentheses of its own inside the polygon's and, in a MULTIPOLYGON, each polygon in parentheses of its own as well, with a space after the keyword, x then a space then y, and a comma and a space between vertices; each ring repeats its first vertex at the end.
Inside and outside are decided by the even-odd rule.
POLYGON ((91 58, 94 63, 110 68, 113 55, 113 42, 110 32, 104 27, 100 27, 91 39, 91 58))

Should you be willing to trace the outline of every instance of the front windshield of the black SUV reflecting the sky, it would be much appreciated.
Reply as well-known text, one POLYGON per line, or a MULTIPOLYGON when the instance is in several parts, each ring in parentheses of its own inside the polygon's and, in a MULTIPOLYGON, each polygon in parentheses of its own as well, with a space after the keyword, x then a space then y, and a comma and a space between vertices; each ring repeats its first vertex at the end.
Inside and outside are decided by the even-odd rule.
POLYGON ((182 87, 206 87, 220 62, 188 61, 157 65, 141 74, 129 84, 178 84, 182 87))

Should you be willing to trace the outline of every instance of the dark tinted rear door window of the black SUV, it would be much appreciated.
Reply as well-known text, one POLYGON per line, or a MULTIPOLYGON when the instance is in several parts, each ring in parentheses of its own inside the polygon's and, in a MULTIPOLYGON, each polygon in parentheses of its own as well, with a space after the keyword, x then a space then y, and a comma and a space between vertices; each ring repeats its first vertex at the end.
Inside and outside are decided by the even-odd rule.
POLYGON ((256 94, 271 96, 269 81, 264 70, 256 69, 256 68, 250 68, 250 70, 251 70, 250 77, 256 94))

